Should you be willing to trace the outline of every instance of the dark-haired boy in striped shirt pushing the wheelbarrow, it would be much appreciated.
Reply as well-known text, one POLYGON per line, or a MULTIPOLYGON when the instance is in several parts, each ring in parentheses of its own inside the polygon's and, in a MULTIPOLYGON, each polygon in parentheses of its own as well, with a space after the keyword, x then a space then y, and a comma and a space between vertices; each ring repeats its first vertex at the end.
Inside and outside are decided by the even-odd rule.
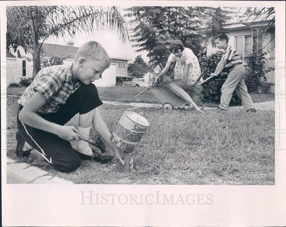
POLYGON ((245 110, 247 112, 256 112, 256 110, 253 108, 253 102, 247 92, 247 87, 244 82, 244 77, 246 74, 245 68, 237 53, 237 50, 230 46, 228 42, 229 38, 225 34, 220 34, 215 37, 217 48, 223 49, 224 55, 217 65, 215 72, 211 73, 210 76, 218 76, 225 67, 230 70, 229 75, 221 88, 221 103, 219 105, 219 109, 228 109, 229 102, 231 101, 232 94, 235 90, 237 96, 241 99, 245 110))

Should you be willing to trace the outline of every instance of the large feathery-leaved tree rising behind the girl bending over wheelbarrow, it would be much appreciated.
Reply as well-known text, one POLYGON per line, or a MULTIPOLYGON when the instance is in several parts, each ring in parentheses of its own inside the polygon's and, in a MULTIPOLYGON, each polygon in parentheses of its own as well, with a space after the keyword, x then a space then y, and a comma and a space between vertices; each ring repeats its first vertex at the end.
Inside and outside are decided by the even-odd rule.
MULTIPOLYGON (((124 16, 135 17, 130 22, 135 26, 130 36, 136 52, 147 51, 152 66, 164 68, 170 55, 169 45, 173 40, 181 40, 184 46, 198 55, 205 48, 209 34, 204 30, 209 27, 214 15, 214 21, 222 26, 226 19, 225 11, 212 7, 153 7, 135 6, 126 11, 132 11, 124 16)), ((222 29, 222 27, 220 28, 222 29)))

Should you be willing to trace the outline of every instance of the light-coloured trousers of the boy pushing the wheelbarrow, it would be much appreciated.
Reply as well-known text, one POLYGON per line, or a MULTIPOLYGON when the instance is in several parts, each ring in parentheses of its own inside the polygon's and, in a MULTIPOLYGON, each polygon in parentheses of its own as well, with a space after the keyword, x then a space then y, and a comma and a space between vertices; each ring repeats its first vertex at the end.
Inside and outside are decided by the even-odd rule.
POLYGON ((229 102, 231 101, 234 90, 236 91, 237 96, 241 99, 242 105, 246 110, 253 108, 252 99, 248 94, 247 87, 244 83, 245 74, 245 68, 242 64, 231 69, 221 88, 221 104, 219 105, 219 108, 224 110, 229 108, 229 102))

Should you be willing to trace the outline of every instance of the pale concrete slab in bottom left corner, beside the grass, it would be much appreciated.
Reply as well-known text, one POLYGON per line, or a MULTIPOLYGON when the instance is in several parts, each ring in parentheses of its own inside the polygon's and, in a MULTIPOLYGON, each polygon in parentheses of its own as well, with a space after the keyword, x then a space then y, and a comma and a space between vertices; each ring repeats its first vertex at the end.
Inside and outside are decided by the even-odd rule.
POLYGON ((49 175, 38 167, 17 163, 7 157, 7 184, 74 184, 71 181, 49 175))

